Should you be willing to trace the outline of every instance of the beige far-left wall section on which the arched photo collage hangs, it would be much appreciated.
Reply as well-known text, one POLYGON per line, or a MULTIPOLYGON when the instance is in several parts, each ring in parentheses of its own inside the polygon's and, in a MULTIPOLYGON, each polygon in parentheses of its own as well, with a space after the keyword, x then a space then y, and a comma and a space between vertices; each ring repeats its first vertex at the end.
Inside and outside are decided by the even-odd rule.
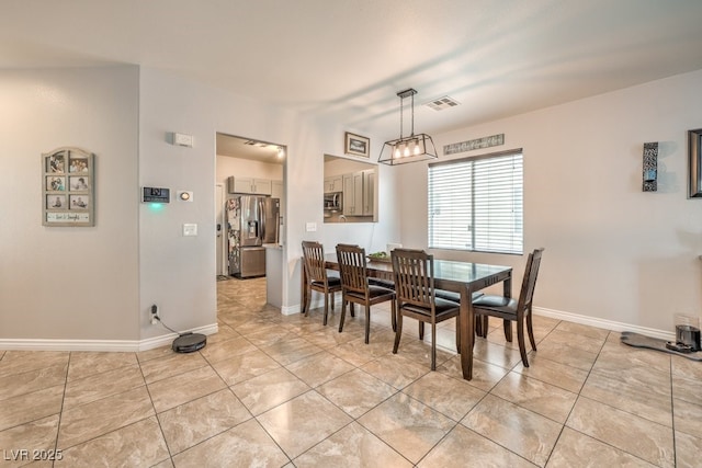
POLYGON ((138 68, 0 70, 0 339, 138 340, 138 68), (95 155, 94 227, 42 226, 64 146, 95 155))

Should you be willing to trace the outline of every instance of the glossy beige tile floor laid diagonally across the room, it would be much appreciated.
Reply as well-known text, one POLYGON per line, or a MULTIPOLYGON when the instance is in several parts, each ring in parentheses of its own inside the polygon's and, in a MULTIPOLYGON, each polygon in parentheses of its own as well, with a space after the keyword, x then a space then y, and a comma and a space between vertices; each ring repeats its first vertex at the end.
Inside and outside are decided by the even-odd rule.
POLYGON ((453 321, 432 373, 409 320, 392 354, 389 306, 365 345, 362 313, 338 333, 264 279, 217 289, 201 352, 0 351, 0 466, 702 466, 701 363, 536 317, 531 367, 492 322, 466 381, 453 321))

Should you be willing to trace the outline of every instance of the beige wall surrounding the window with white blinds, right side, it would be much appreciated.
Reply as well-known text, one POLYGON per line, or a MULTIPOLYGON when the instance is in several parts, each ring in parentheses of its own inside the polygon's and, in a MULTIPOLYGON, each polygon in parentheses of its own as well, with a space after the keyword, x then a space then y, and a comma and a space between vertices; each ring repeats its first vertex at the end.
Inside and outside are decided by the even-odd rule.
MULTIPOLYGON (((671 332, 702 308, 702 199, 688 199, 688 130, 702 70, 434 135, 443 145, 505 134, 523 148, 525 251, 545 247, 535 305, 555 312, 671 332), (659 141, 658 192, 642 192, 643 144, 659 141)), ((450 159, 442 157, 441 159, 450 159)), ((398 168, 401 241, 424 248, 427 164, 398 168)), ((514 266, 524 258, 437 251, 514 266)))

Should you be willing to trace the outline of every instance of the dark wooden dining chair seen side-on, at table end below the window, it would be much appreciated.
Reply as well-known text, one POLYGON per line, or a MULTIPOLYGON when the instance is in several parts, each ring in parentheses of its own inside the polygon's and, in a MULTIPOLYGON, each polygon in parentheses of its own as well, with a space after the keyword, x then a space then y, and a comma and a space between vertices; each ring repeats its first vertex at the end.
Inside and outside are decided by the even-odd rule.
POLYGON ((476 319, 480 320, 483 336, 487 336, 487 318, 497 317, 502 319, 502 328, 505 329, 505 339, 512 341, 512 322, 517 322, 517 341, 519 342, 519 352, 522 356, 524 367, 529 367, 526 358, 526 346, 524 344, 524 322, 526 323, 526 332, 531 349, 536 351, 536 341, 534 340, 534 330, 532 327, 532 301, 534 298, 534 289, 536 288, 536 277, 539 276, 539 266, 541 265, 541 256, 544 249, 535 249, 529 254, 524 277, 522 279, 522 288, 519 299, 511 297, 484 295, 473 300, 473 310, 476 319))

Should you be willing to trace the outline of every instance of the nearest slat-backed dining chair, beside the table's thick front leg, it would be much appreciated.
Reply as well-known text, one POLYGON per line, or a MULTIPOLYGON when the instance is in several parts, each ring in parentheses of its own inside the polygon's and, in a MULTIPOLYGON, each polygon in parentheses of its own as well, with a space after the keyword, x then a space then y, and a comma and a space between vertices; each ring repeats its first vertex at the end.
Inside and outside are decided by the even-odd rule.
POLYGON ((403 317, 419 321, 419 338, 424 323, 431 324, 431 370, 437 369, 437 323, 456 318, 456 349, 461 347, 458 313, 461 305, 435 296, 434 256, 423 250, 395 249, 390 252, 397 294, 397 330, 393 353, 397 354, 403 334, 403 317))

